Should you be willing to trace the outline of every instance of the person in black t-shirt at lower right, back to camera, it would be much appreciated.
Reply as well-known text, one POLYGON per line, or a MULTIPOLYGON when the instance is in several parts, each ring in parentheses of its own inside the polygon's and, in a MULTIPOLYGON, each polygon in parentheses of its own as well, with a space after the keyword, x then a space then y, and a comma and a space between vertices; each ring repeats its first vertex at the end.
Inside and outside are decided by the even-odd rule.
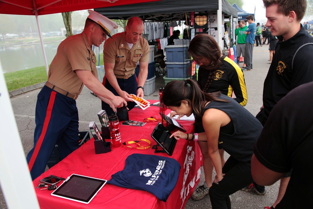
POLYGON ((251 172, 258 184, 272 185, 292 169, 285 195, 275 209, 310 208, 311 205, 312 89, 313 82, 303 84, 282 98, 269 114, 254 146, 251 172))

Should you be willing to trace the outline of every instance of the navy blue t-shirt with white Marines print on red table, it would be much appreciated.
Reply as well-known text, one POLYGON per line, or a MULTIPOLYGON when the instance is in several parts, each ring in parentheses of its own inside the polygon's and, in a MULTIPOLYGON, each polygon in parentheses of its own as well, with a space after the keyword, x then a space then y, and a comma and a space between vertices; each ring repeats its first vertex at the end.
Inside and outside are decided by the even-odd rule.
POLYGON ((147 191, 167 201, 181 168, 177 160, 150 154, 131 154, 125 162, 124 170, 113 174, 108 184, 147 191))

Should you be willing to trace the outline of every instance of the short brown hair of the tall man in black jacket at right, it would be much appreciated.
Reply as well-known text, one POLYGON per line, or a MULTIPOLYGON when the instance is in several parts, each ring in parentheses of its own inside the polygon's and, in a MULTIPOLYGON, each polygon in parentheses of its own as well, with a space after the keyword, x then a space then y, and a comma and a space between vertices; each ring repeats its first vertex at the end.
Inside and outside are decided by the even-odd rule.
POLYGON ((306 0, 263 0, 264 7, 278 5, 278 12, 287 16, 291 11, 297 14, 297 20, 301 21, 306 10, 306 0))

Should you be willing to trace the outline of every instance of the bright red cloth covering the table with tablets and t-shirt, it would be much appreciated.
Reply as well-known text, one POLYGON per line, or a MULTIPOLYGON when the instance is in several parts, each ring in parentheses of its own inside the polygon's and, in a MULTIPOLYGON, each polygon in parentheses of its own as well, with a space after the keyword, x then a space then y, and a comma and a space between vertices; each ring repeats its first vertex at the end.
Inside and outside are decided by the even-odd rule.
MULTIPOLYGON (((151 104, 156 101, 149 101, 151 104)), ((130 120, 143 121, 144 118, 158 116, 159 107, 150 106, 146 110, 133 108, 129 111, 130 120)), ((170 112, 167 109, 166 113, 170 112)), ((179 121, 184 126, 187 133, 193 132, 193 121, 179 121)), ((146 123, 142 127, 126 126, 120 123, 122 142, 148 139, 152 145, 156 142, 151 138, 152 130, 157 123, 146 123)), ((106 139, 108 141, 108 139, 106 139)), ((146 143, 145 143, 146 144, 146 143)), ((144 145, 145 145, 144 144, 144 145)), ((158 150, 161 149, 158 147, 158 150)), ((94 139, 91 138, 79 149, 75 150, 68 157, 57 165, 40 175, 33 181, 34 186, 38 185, 38 180, 48 175, 68 177, 71 174, 79 174, 110 180, 111 175, 124 169, 125 159, 133 153, 154 154, 154 149, 139 150, 127 147, 113 148, 112 151, 104 154, 95 154, 94 139)), ((35 189, 38 202, 41 208, 184 208, 188 198, 191 196, 200 180, 200 158, 201 151, 195 141, 177 140, 172 156, 167 153, 157 153, 156 155, 171 157, 176 159, 181 170, 177 184, 166 202, 160 201, 156 196, 146 191, 126 189, 115 185, 106 184, 89 204, 71 201, 55 196, 51 196, 53 191, 35 189)), ((63 181, 61 181, 63 182, 63 181)), ((58 185, 61 184, 58 183, 58 185)))

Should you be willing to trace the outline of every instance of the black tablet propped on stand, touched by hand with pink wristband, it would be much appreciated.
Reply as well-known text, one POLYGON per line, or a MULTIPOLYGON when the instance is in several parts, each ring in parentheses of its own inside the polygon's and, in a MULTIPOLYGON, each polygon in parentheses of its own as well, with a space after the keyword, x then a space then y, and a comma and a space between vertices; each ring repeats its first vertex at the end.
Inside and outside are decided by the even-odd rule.
POLYGON ((168 155, 173 154, 177 141, 174 137, 170 138, 170 136, 171 133, 160 122, 156 125, 151 134, 151 137, 168 155))

